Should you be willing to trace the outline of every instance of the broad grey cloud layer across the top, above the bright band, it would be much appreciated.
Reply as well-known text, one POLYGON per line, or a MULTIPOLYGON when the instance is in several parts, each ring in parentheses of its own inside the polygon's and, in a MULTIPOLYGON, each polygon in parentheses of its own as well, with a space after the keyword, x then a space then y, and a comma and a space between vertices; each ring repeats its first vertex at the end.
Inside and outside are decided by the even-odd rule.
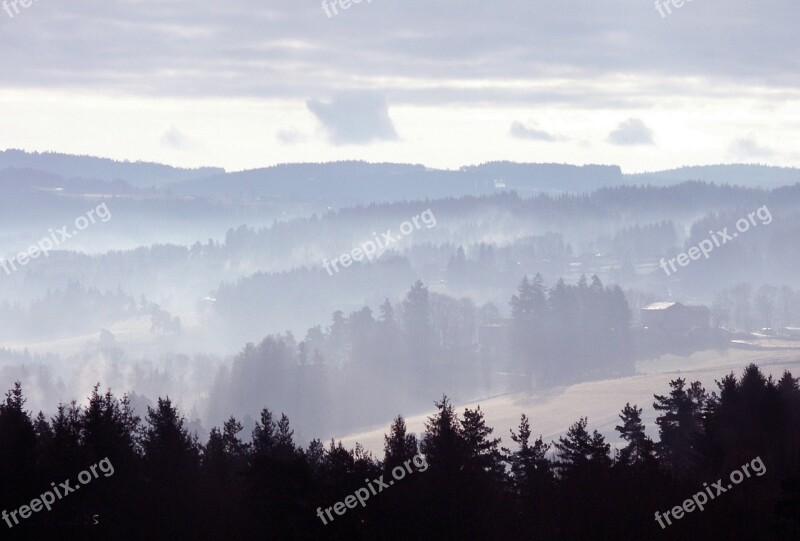
MULTIPOLYGON (((698 1, 667 19, 640 0, 387 0, 334 18, 317 2, 38 2, 0 20, 0 85, 292 99, 369 87, 392 103, 402 93, 404 103, 448 104, 481 93, 497 102, 504 91, 528 102, 558 99, 560 91, 526 95, 503 81, 602 82, 608 73, 792 89, 800 86, 798 18, 800 3, 788 0, 727 0, 725 9, 698 1)), ((619 90, 594 87, 579 104, 619 90)))

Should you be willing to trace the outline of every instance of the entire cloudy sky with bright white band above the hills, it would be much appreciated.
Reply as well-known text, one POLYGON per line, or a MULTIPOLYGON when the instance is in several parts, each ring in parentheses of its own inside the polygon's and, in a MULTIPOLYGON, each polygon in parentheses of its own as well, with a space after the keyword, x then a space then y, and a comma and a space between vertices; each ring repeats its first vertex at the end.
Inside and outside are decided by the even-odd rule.
POLYGON ((800 166, 797 0, 2 1, 0 149, 800 166))

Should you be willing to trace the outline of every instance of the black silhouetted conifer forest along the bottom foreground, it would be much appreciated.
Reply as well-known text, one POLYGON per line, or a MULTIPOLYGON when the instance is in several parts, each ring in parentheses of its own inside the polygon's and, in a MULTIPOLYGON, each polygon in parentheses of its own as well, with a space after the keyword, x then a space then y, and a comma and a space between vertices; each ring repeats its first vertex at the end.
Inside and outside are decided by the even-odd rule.
MULTIPOLYGON (((99 387, 99 386, 98 386, 99 387)), ((126 397, 95 387, 86 406, 47 419, 25 409, 17 385, 0 404, 0 509, 12 511, 108 458, 113 476, 58 500, 4 539, 275 539, 641 541, 797 539, 800 535, 800 386, 755 365, 707 392, 670 382, 655 395, 658 441, 626 404, 614 449, 581 418, 554 442, 525 415, 508 448, 480 407, 436 403, 421 441, 398 416, 382 460, 360 446, 295 441, 285 415, 261 411, 251 434, 229 418, 208 440, 190 434, 168 398, 143 419, 126 397), (373 479, 422 454, 428 467, 323 524, 318 516, 373 479), (756 460, 757 459, 757 460, 756 460), (740 484, 729 474, 756 464, 740 484), (662 529, 656 512, 716 492, 662 529), (96 524, 95 524, 96 523, 96 524)), ((349 400, 338 396, 336 400, 349 400)), ((365 404, 362 404, 366 407, 365 404)), ((11 519, 9 519, 10 521, 11 519)), ((12 522, 13 524, 13 522, 12 522)))

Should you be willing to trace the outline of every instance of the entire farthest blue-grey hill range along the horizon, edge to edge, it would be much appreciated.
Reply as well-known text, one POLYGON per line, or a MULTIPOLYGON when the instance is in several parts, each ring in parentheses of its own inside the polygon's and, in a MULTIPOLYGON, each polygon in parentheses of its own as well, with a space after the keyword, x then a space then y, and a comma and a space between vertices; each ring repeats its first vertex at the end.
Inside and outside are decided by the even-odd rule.
POLYGON ((692 180, 775 188, 800 183, 800 169, 730 164, 623 174, 616 165, 498 161, 446 170, 416 164, 341 161, 290 163, 226 172, 214 167, 181 169, 90 156, 0 151, 0 192, 8 192, 12 187, 19 190, 25 186, 54 188, 56 185, 65 191, 105 193, 124 193, 129 187, 156 187, 176 195, 225 199, 258 197, 274 199, 276 203, 294 201, 344 206, 481 196, 512 190, 527 198, 541 193, 588 193, 620 185, 673 186, 692 180), (64 180, 42 174, 57 175, 64 180))

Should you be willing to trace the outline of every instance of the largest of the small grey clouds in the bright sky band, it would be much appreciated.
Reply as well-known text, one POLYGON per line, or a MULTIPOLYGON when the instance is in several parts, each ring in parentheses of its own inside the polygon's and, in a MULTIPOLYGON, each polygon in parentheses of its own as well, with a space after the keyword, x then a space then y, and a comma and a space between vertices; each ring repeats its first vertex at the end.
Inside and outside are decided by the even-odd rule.
POLYGON ((347 92, 323 102, 306 102, 336 145, 367 144, 396 140, 397 132, 386 99, 374 92, 347 92))

